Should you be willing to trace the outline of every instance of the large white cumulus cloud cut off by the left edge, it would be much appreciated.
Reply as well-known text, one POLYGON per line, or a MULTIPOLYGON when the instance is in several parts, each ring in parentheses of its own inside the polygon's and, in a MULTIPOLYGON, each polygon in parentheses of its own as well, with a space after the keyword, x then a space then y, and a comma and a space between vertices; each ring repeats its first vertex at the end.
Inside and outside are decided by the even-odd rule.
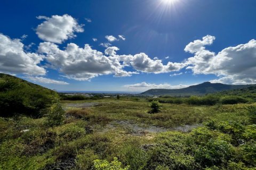
POLYGON ((38 66, 44 56, 23 50, 20 39, 11 39, 0 33, 0 72, 44 75, 45 69, 38 66))

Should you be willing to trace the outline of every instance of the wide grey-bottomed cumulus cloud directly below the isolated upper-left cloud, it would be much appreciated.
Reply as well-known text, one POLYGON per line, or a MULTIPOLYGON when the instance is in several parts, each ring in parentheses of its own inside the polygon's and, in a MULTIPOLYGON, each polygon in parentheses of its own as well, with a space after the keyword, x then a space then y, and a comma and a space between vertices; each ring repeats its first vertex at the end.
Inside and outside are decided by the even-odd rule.
POLYGON ((92 49, 70 43, 64 50, 49 42, 39 44, 38 52, 46 55, 51 67, 58 69, 65 77, 75 80, 90 80, 99 75, 114 74, 116 77, 131 76, 134 72, 122 70, 117 57, 107 57, 92 49))

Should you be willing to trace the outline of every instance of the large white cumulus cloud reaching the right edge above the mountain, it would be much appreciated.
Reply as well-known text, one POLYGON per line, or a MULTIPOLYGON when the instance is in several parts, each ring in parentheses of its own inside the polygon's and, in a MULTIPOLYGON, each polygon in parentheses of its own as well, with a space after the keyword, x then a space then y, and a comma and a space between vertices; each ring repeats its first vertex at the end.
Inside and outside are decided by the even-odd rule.
POLYGON ((204 47, 212 44, 214 39, 213 36, 206 36, 203 40, 195 40, 186 46, 185 51, 195 54, 188 58, 187 69, 191 69, 194 74, 215 74, 220 77, 212 82, 256 83, 256 40, 225 48, 215 54, 204 47))

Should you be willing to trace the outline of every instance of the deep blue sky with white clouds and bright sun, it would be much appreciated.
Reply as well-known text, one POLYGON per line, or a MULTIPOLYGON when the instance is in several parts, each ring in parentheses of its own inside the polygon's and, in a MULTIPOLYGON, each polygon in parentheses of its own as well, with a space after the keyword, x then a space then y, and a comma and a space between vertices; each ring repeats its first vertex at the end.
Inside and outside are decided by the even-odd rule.
POLYGON ((4 0, 0 72, 57 90, 254 84, 255 16, 253 0, 4 0))

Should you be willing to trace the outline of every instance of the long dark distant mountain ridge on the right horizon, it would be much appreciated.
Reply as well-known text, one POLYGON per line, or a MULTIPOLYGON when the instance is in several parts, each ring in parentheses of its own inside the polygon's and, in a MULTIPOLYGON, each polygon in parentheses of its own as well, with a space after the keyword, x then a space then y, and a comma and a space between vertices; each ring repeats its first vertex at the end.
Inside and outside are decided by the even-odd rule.
POLYGON ((142 92, 141 95, 170 95, 170 96, 191 96, 191 95, 205 95, 212 94, 214 92, 220 92, 225 90, 242 89, 246 87, 256 86, 256 84, 250 85, 230 85, 222 83, 204 82, 194 86, 189 86, 182 89, 150 89, 142 92))

